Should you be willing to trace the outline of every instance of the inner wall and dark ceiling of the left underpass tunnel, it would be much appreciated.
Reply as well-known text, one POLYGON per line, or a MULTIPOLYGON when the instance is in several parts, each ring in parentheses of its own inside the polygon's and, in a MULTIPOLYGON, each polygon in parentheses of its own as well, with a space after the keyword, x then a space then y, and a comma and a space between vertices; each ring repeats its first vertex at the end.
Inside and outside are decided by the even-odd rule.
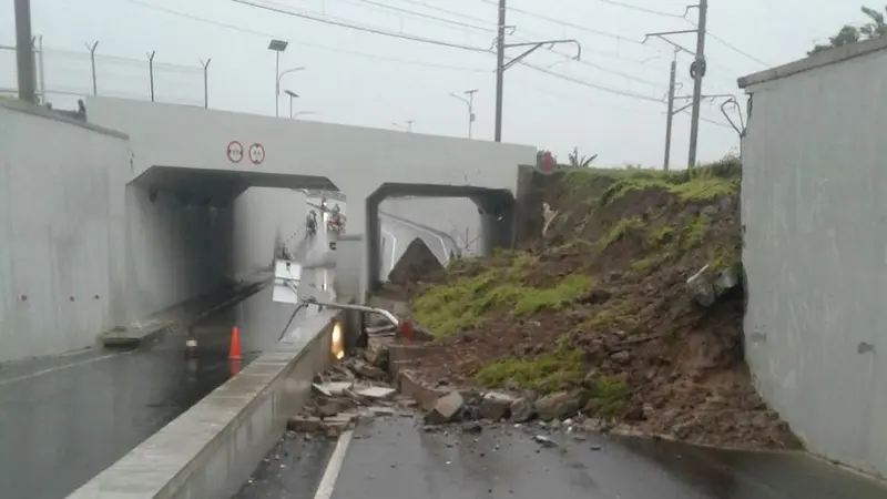
POLYGON ((304 190, 327 177, 152 166, 126 187, 131 319, 271 271, 306 238, 304 190))

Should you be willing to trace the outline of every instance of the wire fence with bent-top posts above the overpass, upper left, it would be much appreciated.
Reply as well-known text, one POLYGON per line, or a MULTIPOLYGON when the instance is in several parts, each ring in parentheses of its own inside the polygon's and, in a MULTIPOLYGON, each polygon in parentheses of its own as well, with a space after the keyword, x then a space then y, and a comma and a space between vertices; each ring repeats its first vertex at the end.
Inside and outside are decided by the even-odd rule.
MULTIPOLYGON (((200 64, 163 62, 155 51, 144 59, 102 53, 100 42, 82 51, 43 47, 34 40, 37 90, 40 102, 57 109, 77 109, 86 95, 210 105, 210 61, 200 64)), ((0 44, 0 95, 16 96, 16 48, 0 44)))

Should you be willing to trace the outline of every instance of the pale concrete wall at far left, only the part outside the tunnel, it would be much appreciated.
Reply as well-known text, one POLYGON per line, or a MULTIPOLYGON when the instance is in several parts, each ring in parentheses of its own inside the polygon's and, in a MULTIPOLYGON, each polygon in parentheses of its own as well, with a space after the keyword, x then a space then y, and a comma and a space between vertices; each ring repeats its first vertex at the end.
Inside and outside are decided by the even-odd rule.
POLYGON ((89 347, 121 315, 125 136, 0 105, 0 361, 89 347))

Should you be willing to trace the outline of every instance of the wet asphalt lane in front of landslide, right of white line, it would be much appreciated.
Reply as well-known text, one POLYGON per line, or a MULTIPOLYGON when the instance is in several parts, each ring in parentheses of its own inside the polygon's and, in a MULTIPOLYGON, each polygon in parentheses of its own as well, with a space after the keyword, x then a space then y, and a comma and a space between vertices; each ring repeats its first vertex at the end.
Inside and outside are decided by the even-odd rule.
POLYGON ((799 455, 562 432, 547 448, 524 428, 447 435, 405 418, 377 419, 355 435, 334 499, 887 498, 880 483, 799 455))

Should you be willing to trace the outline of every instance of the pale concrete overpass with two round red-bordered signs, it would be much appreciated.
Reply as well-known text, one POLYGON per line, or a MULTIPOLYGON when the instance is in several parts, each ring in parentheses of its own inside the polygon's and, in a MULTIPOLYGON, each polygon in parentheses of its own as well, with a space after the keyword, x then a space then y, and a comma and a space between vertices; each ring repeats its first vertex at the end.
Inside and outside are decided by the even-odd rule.
POLYGON ((109 98, 86 101, 90 123, 124 131, 140 198, 172 194, 224 207, 249 187, 333 190, 348 200, 349 232, 364 236, 360 296, 379 275, 379 203, 416 195, 469 197, 483 247, 514 233, 517 166, 530 146, 282 120, 109 98))

